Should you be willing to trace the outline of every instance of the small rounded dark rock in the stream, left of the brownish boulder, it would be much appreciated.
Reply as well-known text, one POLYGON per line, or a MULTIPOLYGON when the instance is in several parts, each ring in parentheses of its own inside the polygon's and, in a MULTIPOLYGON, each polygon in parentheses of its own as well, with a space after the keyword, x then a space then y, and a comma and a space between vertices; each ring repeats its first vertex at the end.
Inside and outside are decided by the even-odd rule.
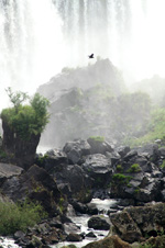
POLYGON ((103 216, 92 216, 88 221, 88 227, 99 230, 109 230, 110 224, 107 222, 107 219, 103 216))

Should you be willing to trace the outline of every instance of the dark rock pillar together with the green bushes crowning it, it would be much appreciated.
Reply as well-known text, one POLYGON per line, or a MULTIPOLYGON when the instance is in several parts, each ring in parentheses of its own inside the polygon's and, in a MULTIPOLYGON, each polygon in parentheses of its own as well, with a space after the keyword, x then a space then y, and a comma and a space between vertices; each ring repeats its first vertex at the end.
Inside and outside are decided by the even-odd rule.
POLYGON ((50 119, 47 110, 50 102, 38 93, 30 98, 20 91, 13 93, 10 88, 7 93, 13 106, 1 112, 2 147, 11 162, 29 169, 34 162, 41 133, 50 119), (28 99, 29 104, 23 104, 28 99))

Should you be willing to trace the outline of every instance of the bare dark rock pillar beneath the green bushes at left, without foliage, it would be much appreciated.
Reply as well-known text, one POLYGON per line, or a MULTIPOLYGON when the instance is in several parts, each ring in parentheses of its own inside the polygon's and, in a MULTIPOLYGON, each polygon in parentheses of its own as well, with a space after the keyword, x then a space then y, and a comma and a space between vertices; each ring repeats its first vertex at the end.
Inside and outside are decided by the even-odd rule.
POLYGON ((2 121, 2 127, 4 151, 9 155, 11 162, 28 170, 34 164, 41 135, 31 135, 29 140, 24 140, 16 136, 4 121, 2 121))

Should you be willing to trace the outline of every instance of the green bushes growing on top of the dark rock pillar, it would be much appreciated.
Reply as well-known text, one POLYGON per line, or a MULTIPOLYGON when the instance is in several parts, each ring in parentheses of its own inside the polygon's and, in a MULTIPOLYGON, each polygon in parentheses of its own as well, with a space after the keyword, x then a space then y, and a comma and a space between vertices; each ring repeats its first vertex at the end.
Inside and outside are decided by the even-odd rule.
POLYGON ((29 98, 25 93, 12 93, 10 88, 7 92, 13 103, 13 108, 2 110, 2 121, 22 139, 29 139, 31 135, 41 134, 50 119, 47 112, 48 100, 35 93, 30 99, 30 104, 23 105, 22 102, 29 98))

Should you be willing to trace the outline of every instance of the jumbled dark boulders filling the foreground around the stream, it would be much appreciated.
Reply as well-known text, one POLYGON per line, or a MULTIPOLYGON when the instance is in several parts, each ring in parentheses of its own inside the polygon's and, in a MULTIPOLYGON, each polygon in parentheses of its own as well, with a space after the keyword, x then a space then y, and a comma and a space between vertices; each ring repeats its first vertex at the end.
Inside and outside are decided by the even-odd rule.
POLYGON ((50 214, 48 219, 26 233, 16 233, 16 243, 21 247, 44 248, 61 240, 80 241, 91 236, 81 234, 67 217, 72 207, 77 214, 91 215, 89 228, 110 229, 109 237, 87 248, 133 247, 135 241, 145 243, 151 236, 155 237, 153 244, 164 244, 164 161, 165 148, 155 144, 136 149, 114 148, 98 137, 68 142, 63 149, 37 155, 28 171, 3 160, 1 201, 30 198, 40 201, 50 214), (89 202, 92 198, 112 196, 119 199, 118 204, 109 210, 109 219, 105 219, 89 202))

